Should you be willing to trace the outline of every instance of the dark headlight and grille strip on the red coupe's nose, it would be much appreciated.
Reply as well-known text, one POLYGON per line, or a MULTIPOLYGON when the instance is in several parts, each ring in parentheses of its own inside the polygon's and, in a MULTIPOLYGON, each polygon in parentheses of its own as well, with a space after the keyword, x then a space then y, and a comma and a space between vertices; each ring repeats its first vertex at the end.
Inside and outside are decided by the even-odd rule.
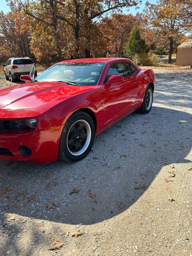
POLYGON ((0 121, 0 131, 29 130, 36 128, 37 119, 3 120, 0 121))

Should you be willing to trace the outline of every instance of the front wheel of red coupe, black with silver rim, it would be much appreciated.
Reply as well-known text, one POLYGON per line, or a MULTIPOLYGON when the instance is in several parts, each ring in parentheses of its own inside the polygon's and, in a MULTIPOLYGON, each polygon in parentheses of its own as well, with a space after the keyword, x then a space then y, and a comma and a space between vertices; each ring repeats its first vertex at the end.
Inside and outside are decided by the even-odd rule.
POLYGON ((85 112, 72 114, 62 130, 58 160, 76 162, 91 150, 95 136, 92 118, 85 112))

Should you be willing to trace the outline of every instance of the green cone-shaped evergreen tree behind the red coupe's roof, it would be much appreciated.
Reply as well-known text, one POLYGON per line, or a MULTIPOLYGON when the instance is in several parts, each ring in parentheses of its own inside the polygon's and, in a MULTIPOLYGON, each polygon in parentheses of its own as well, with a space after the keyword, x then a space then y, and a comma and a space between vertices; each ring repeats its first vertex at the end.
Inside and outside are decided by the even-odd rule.
POLYGON ((132 29, 130 38, 126 44, 125 56, 133 59, 135 54, 148 53, 149 47, 145 42, 144 38, 141 38, 140 30, 138 25, 132 29))

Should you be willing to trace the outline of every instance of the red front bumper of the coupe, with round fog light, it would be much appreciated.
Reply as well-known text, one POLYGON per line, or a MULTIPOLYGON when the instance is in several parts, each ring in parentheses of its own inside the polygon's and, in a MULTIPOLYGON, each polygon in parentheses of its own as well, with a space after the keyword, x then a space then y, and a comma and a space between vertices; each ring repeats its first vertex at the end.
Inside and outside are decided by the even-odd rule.
POLYGON ((35 130, 0 132, 0 160, 29 161, 38 164, 54 162, 58 159, 58 148, 62 127, 50 132, 50 116, 38 117, 35 130), (30 156, 22 156, 19 146, 31 149, 30 156), (4 155, 5 152, 12 154, 4 155))

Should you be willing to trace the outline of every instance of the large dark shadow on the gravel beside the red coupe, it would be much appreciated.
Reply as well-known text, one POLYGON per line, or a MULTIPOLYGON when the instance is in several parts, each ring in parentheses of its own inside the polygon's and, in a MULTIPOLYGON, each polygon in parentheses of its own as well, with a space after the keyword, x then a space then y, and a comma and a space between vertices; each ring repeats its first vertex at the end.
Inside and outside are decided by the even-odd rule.
POLYGON ((189 162, 185 158, 192 146, 192 140, 186 140, 192 135, 191 118, 186 112, 153 107, 150 114, 130 114, 99 134, 80 162, 1 161, 1 188, 12 190, 0 197, 0 208, 67 224, 112 218, 140 198, 165 163, 189 162), (79 194, 70 194, 74 188, 81 190, 79 194), (95 198, 89 198, 88 190, 95 198), (35 202, 28 201, 32 195, 35 202), (46 210, 54 201, 59 207, 46 210))

